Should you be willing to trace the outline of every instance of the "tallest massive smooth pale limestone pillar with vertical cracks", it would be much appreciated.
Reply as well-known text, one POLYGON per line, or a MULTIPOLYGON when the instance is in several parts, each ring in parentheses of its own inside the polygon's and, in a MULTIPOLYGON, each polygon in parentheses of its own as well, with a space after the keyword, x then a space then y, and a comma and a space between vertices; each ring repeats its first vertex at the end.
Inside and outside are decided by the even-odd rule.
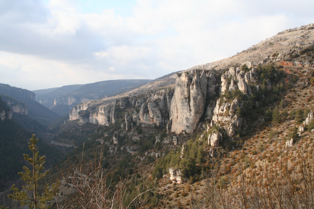
POLYGON ((207 78, 204 71, 177 74, 171 99, 171 132, 191 133, 204 113, 207 96, 207 78))

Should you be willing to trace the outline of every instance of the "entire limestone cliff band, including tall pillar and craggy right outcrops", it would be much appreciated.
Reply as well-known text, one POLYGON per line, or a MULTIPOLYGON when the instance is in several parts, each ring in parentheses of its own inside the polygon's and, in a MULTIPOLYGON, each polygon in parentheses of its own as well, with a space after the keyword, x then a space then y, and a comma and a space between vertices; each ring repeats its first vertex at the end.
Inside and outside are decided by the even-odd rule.
MULTIPOLYGON (((254 67, 249 71, 231 67, 221 75, 221 84, 215 75, 217 72, 196 69, 181 72, 176 75, 174 90, 161 89, 136 98, 122 97, 106 105, 93 102, 75 105, 70 119, 109 126, 115 123, 115 117, 118 117, 115 111, 119 109, 123 111, 123 118, 121 114, 119 117, 125 122, 122 125, 127 131, 135 125, 147 128, 166 126, 168 132, 179 134, 182 131, 192 133, 204 116, 205 120, 212 121, 213 125, 219 124, 232 137, 243 123, 243 118, 237 114, 243 102, 237 98, 231 101, 217 99, 217 96, 227 90, 240 90, 250 95, 250 85, 256 83, 257 74, 254 67)), ((212 140, 212 146, 217 146, 219 140, 212 140)))

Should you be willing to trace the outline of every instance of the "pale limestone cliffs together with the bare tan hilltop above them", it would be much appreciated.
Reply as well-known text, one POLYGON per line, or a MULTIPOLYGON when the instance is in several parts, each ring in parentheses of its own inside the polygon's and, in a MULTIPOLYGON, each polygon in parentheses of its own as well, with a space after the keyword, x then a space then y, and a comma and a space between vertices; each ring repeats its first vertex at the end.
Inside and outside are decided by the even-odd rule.
MULTIPOLYGON (((124 123, 122 126, 128 131, 140 125, 166 127, 168 132, 176 134, 194 132, 203 120, 211 127, 219 127, 222 135, 234 137, 247 126, 245 109, 261 107, 260 101, 256 100, 256 92, 259 91, 260 100, 269 101, 269 95, 265 92, 274 88, 273 81, 278 76, 273 73, 274 69, 264 69, 264 72, 257 70, 258 66, 269 63, 274 68, 273 64, 277 63, 278 66, 291 64, 311 67, 313 61, 305 59, 308 55, 300 56, 306 47, 310 47, 300 47, 300 40, 304 44, 305 40, 313 39, 311 35, 306 35, 310 33, 311 30, 306 27, 279 33, 239 55, 179 72, 172 76, 176 79, 175 85, 160 86, 153 90, 153 83, 150 83, 146 87, 151 90, 145 93, 134 94, 132 91, 116 101, 112 101, 115 100, 113 98, 110 102, 76 105, 70 112, 70 119, 109 126, 120 117, 124 123), (272 44, 269 44, 270 41, 272 44), (280 50, 278 53, 273 52, 275 47, 280 50), (257 56, 256 52, 261 50, 263 54, 257 56), (290 63, 287 61, 290 57, 296 58, 290 63), (244 98, 250 98, 253 103, 244 98), (118 116, 117 113, 123 115, 118 116)), ((159 85, 161 83, 162 80, 159 85)), ((217 141, 220 139, 213 139, 209 144, 216 146, 217 141)))

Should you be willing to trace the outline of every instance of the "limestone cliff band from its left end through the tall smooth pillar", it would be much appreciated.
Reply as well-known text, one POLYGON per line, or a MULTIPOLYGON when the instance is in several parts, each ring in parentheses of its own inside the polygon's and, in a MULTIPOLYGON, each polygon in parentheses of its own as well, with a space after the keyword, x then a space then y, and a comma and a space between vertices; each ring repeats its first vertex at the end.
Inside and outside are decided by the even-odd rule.
POLYGON ((213 115, 214 107, 205 107, 205 103, 206 98, 216 95, 216 89, 213 72, 209 71, 206 75, 205 71, 192 70, 177 75, 174 91, 161 89, 148 97, 123 97, 107 105, 96 105, 92 102, 75 105, 70 111, 70 119, 109 126, 115 122, 114 111, 121 108, 127 112, 123 118, 127 130, 136 124, 150 128, 167 126, 167 130, 171 132, 191 133, 204 112, 210 112, 210 117, 213 115), (138 107, 139 111, 136 109, 138 107))

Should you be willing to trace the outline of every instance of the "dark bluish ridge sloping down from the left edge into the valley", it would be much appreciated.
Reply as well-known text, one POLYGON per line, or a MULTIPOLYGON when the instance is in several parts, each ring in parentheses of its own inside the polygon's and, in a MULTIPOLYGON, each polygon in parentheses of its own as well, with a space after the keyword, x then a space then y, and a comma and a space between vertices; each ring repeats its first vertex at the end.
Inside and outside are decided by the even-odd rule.
MULTIPOLYGON (((21 89, 17 87, 10 86, 8 84, 0 84, 0 93, 7 96, 6 100, 13 99, 17 100, 16 103, 25 104, 27 106, 26 115, 30 118, 42 123, 45 126, 48 126, 53 121, 60 118, 60 116, 44 107, 40 103, 35 101, 35 93, 32 91, 28 91, 26 89, 21 89), (9 99, 9 97, 12 97, 9 99)), ((14 109, 13 109, 14 111, 14 109)), ((14 111, 18 112, 18 111, 14 111)), ((24 110, 25 112, 25 110, 24 110)), ((18 112, 19 113, 19 112, 18 112)))

